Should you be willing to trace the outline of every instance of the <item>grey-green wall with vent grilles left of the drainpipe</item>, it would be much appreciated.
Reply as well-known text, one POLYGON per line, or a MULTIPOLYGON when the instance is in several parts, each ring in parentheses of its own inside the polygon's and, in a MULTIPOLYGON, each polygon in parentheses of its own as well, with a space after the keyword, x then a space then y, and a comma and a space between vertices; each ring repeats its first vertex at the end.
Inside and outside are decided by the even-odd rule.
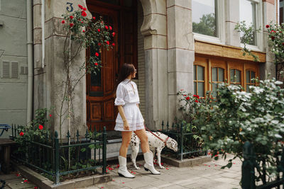
POLYGON ((26 24, 26 0, 0 0, 0 124, 26 124, 26 24))

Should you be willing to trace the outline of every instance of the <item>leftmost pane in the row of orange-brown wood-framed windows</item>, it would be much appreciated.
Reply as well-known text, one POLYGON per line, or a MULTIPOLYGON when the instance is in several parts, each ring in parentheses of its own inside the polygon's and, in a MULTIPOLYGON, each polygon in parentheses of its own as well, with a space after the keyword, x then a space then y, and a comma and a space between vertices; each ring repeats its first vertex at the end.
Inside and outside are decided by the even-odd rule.
POLYGON ((195 95, 204 97, 205 92, 205 79, 204 79, 204 67, 200 65, 194 65, 194 88, 195 95))

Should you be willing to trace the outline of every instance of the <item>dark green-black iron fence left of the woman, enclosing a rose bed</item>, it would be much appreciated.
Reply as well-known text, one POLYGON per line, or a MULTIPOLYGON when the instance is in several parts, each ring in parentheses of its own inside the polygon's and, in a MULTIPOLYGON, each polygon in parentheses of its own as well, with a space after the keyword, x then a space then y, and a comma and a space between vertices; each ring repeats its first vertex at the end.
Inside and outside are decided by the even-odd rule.
POLYGON ((19 128, 12 125, 12 139, 18 142, 18 147, 11 154, 12 159, 31 166, 45 176, 60 183, 64 176, 88 174, 102 168, 102 174, 107 173, 107 131, 86 131, 82 138, 77 130, 75 137, 67 132, 66 139, 60 140, 58 132, 45 136, 32 136, 21 140, 19 128), (19 140, 17 140, 19 139, 19 140))

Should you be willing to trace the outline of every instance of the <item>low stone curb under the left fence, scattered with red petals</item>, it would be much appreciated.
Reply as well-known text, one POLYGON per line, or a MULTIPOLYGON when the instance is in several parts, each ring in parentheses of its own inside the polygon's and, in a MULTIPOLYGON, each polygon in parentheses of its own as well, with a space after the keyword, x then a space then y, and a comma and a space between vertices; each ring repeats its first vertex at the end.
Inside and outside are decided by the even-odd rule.
POLYGON ((107 183, 112 181, 112 175, 94 175, 94 176, 85 176, 82 178, 75 178, 69 181, 63 181, 58 185, 53 184, 53 181, 50 181, 48 178, 36 173, 35 171, 31 170, 26 166, 19 166, 15 162, 12 162, 13 167, 21 172, 21 175, 28 178, 29 181, 35 183, 40 188, 46 189, 70 189, 70 188, 84 188, 86 186, 91 186, 99 183, 107 183))

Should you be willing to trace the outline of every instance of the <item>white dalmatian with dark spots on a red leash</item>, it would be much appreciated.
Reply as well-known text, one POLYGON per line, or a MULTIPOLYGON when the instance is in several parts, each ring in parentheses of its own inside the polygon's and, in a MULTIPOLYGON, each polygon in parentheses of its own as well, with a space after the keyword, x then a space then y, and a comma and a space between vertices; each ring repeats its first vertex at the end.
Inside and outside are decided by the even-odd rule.
MULTIPOLYGON (((172 139, 168 137, 168 135, 165 135, 161 132, 153 132, 153 133, 158 137, 160 137, 160 139, 163 139, 163 141, 158 139, 158 137, 155 137, 155 135, 153 135, 151 132, 146 131, 150 150, 153 152, 153 156, 155 156, 155 151, 157 151, 158 165, 160 166, 160 168, 165 168, 160 164, 160 153, 162 152, 165 146, 168 147, 169 149, 173 149, 173 151, 178 151, 178 142, 176 142, 175 139, 172 139)), ((132 132, 131 142, 130 142, 131 161, 136 169, 140 169, 136 165, 136 157, 139 151, 139 144, 140 144, 140 139, 134 132, 132 132)))

